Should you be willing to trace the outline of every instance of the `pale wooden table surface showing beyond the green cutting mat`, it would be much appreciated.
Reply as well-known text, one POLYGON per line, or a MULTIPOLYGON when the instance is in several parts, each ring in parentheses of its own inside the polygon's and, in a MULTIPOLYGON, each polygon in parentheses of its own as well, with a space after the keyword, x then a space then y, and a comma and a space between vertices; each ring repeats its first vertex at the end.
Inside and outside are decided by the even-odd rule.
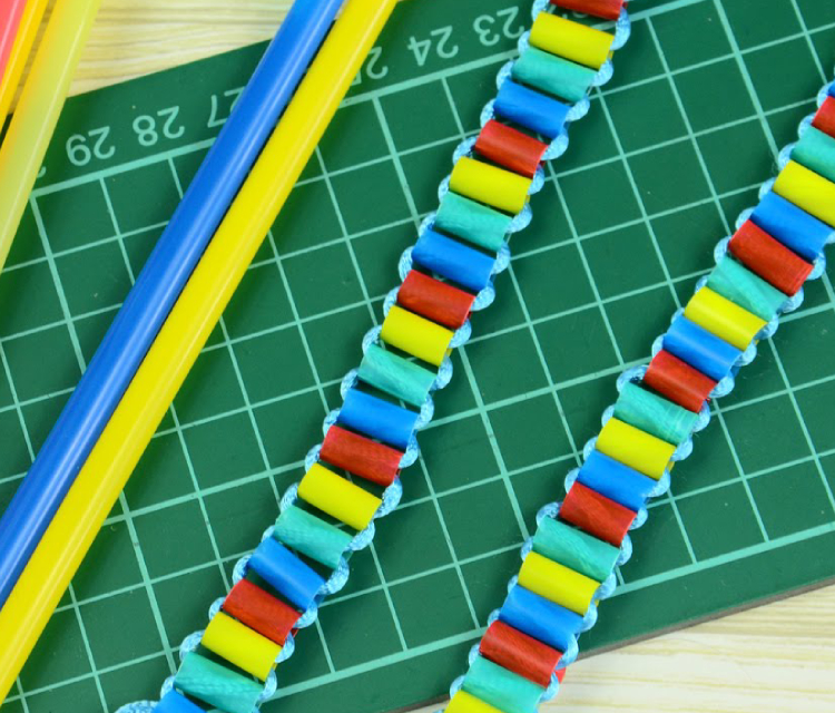
MULTIPOLYGON (((286 0, 104 0, 73 91, 267 39, 287 4, 286 0)), ((449 672, 450 681, 463 666, 462 661, 461 671, 449 672)), ((580 661, 571 667, 560 695, 543 710, 558 709, 564 713, 832 713, 835 586, 580 661)))

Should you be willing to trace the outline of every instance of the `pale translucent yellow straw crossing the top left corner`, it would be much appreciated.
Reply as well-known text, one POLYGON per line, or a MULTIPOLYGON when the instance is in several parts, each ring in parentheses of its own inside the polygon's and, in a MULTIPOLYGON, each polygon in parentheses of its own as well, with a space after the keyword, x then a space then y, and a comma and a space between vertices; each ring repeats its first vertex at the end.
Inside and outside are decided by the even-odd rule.
MULTIPOLYGON (((58 0, 0 146, 0 271, 101 0, 58 0)), ((4 116, 4 115, 3 115, 4 116)))

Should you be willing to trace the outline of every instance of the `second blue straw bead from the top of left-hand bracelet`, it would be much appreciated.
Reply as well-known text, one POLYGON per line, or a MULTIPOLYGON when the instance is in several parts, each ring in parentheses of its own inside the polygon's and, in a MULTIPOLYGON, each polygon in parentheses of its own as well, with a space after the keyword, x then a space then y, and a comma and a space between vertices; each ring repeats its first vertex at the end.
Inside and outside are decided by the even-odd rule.
POLYGON ((434 231, 424 231, 418 238, 412 258, 472 292, 481 292, 488 286, 495 264, 495 257, 434 231))

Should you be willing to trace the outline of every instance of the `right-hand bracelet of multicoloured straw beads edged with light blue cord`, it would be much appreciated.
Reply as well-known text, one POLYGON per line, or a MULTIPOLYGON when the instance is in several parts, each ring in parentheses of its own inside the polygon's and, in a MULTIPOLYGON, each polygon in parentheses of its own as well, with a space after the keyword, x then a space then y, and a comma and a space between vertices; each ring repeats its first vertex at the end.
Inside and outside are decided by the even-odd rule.
POLYGON ((824 273, 824 246, 835 241, 835 82, 817 104, 799 140, 780 152, 777 178, 719 242, 716 266, 652 344, 649 365, 618 378, 618 400, 566 477, 566 498, 537 515, 521 569, 453 682, 446 713, 533 713, 557 694, 579 634, 615 590, 615 567, 631 556, 628 531, 690 455, 692 433, 710 420, 708 401, 734 389, 757 341, 800 306, 804 282, 824 273))

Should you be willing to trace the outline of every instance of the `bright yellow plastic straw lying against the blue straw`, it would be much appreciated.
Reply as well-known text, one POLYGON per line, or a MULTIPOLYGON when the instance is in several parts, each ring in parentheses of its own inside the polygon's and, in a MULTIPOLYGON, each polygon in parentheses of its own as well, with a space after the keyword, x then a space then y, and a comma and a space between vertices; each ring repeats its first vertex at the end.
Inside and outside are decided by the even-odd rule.
POLYGON ((395 4, 348 1, 0 611, 0 702, 395 4))

